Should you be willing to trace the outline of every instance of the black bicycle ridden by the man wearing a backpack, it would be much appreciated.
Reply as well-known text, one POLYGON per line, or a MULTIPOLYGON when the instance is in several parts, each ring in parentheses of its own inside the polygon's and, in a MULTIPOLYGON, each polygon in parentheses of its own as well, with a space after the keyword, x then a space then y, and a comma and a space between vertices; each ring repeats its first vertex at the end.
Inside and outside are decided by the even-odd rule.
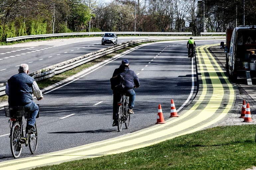
POLYGON ((118 102, 118 131, 122 131, 123 123, 125 123, 126 129, 130 127, 131 115, 128 113, 128 97, 122 95, 122 101, 118 102))

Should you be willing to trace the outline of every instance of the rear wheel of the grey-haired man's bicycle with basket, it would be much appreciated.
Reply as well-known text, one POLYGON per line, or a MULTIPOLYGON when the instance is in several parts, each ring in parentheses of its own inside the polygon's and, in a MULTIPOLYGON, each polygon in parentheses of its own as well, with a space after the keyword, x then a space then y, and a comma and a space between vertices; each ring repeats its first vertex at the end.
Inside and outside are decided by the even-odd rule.
POLYGON ((12 125, 11 130, 11 151, 14 158, 18 158, 21 154, 22 145, 20 143, 21 126, 19 122, 12 125))

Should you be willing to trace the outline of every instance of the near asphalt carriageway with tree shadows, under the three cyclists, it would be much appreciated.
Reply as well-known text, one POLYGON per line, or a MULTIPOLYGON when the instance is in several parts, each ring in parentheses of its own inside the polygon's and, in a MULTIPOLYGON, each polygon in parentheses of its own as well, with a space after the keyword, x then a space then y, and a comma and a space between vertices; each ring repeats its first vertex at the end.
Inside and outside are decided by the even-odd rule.
MULTIPOLYGON (((167 119, 171 99, 174 99, 178 109, 191 93, 192 63, 187 58, 186 43, 170 41, 145 45, 45 94, 44 100, 37 102, 40 104, 37 154, 110 139, 154 125, 159 103, 167 119), (138 74, 141 87, 135 90, 135 114, 131 117, 130 128, 117 132, 117 127, 111 126, 112 91, 109 79, 124 58, 130 61, 130 68, 138 74)), ((220 43, 220 40, 197 41, 197 46, 212 43, 220 43)), ((8 118, 4 117, 3 110, 0 110, 0 122, 0 161, 13 159, 8 118)), ((21 157, 30 156, 29 148, 23 149, 21 157)))

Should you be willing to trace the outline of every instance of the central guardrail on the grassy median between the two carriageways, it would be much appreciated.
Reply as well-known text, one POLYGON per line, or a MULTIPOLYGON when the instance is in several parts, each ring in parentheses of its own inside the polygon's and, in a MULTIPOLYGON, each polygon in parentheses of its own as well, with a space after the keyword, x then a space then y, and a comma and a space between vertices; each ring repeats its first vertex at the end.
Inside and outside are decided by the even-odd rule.
MULTIPOLYGON (((218 38, 224 38, 224 37, 218 37, 218 38)), ((87 63, 89 61, 92 61, 94 59, 97 59, 99 57, 102 57, 104 55, 110 54, 112 52, 115 52, 117 50, 120 50, 122 48, 125 48, 127 46, 136 44, 136 43, 141 43, 141 42, 147 42, 147 41, 160 41, 160 40, 187 40, 188 38, 186 37, 166 37, 166 38, 148 38, 148 39, 140 39, 140 40, 131 40, 127 42, 123 42, 118 45, 110 46, 108 48, 104 48, 95 52, 91 52, 55 65, 52 65, 50 67, 41 69, 37 72, 31 73, 30 76, 32 76, 36 81, 40 81, 43 79, 47 79, 50 77, 53 77, 55 74, 60 74, 63 73, 64 71, 70 70, 72 68, 75 68, 79 65, 82 65, 84 63, 87 63)), ((194 38, 194 39, 216 39, 213 37, 204 37, 204 38, 194 38)), ((5 95, 5 86, 0 87, 0 96, 5 95)))

